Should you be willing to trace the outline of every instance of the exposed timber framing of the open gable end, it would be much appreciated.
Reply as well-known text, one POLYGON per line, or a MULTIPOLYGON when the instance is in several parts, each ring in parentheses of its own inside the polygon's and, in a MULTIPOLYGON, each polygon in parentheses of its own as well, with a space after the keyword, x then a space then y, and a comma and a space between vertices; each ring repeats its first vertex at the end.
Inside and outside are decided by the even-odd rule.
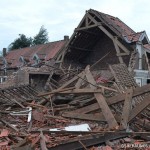
MULTIPOLYGON (((81 20, 77 28, 75 28, 73 35, 71 36, 69 42, 66 45, 66 48, 64 49, 65 55, 67 54, 68 50, 70 51, 72 49, 92 52, 92 48, 88 47, 88 43, 91 41, 90 39, 89 41, 87 41, 87 44, 85 44, 86 48, 85 46, 84 47, 79 46, 81 44, 76 44, 77 43, 76 39, 77 37, 82 37, 82 33, 86 33, 85 36, 87 37, 85 38, 88 40, 89 36, 97 36, 98 35, 97 32, 101 31, 105 35, 107 35, 107 37, 109 37, 112 43, 114 44, 116 56, 118 57, 119 62, 124 63, 123 57, 130 55, 130 49, 132 48, 130 47, 129 49, 129 46, 127 46, 127 44, 124 44, 125 42, 121 42, 122 41, 121 35, 116 31, 114 32, 114 30, 111 31, 112 29, 111 27, 108 30, 108 25, 106 25, 103 22, 102 18, 98 19, 98 17, 99 16, 92 13, 91 10, 86 11, 86 14, 84 15, 83 19, 81 20), (80 34, 78 35, 78 33, 81 33, 81 35, 80 34)), ((65 57, 62 59, 62 62, 64 62, 64 59, 65 57)))

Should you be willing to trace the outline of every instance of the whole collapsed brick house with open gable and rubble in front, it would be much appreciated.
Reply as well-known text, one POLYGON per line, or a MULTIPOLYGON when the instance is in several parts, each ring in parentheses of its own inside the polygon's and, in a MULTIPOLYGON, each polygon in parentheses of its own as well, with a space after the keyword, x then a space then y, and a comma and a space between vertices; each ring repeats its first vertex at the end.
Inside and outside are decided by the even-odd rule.
POLYGON ((18 71, 0 85, 0 148, 148 148, 149 48, 145 31, 90 9, 70 39, 6 54, 4 75, 18 71))

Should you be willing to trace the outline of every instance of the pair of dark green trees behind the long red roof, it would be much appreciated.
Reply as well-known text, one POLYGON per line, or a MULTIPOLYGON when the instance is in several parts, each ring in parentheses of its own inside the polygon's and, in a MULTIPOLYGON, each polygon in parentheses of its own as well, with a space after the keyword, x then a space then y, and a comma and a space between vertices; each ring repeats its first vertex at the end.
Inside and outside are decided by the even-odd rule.
POLYGON ((44 28, 44 26, 41 26, 39 33, 33 39, 31 37, 29 38, 26 37, 24 34, 19 34, 19 38, 15 39, 14 42, 12 42, 8 46, 8 50, 11 51, 14 49, 45 44, 47 42, 48 42, 48 32, 44 28))

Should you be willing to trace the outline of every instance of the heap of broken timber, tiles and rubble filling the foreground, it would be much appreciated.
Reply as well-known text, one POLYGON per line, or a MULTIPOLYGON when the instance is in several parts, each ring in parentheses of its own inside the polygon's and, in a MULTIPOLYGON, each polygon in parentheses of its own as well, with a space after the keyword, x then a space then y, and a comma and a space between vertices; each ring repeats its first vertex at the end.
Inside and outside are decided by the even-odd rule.
POLYGON ((150 85, 138 87, 124 64, 109 68, 106 77, 90 66, 58 81, 50 73, 46 84, 57 86, 48 92, 1 89, 0 149, 148 148, 150 85))

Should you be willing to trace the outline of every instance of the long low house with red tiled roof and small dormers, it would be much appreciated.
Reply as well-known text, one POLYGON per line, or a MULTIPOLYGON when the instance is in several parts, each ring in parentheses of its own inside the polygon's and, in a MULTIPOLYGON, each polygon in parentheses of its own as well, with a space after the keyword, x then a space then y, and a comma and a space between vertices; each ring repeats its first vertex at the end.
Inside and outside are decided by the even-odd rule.
POLYGON ((12 50, 8 53, 4 49, 4 57, 0 60, 1 75, 11 75, 23 66, 39 67, 40 63, 51 60, 59 62, 57 56, 68 40, 69 37, 64 36, 64 40, 12 50))

